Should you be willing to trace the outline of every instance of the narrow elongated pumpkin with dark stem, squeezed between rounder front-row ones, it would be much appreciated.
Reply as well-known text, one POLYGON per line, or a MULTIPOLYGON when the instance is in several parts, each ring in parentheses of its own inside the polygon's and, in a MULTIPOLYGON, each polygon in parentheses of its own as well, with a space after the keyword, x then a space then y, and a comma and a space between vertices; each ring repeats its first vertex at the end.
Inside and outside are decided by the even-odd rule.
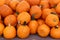
POLYGON ((29 28, 30 28, 30 33, 31 34, 36 34, 37 33, 37 28, 38 28, 38 23, 37 21, 35 20, 34 17, 32 17, 32 20, 29 22, 29 28))

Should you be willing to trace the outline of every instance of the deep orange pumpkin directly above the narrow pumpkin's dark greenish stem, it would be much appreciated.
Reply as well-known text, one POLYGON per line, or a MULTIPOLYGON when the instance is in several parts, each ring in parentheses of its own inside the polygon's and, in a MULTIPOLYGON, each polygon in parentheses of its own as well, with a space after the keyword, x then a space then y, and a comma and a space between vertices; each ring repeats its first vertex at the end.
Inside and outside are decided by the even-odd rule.
POLYGON ((34 15, 34 18, 38 19, 41 17, 42 11, 39 6, 34 5, 30 9, 31 16, 34 15))

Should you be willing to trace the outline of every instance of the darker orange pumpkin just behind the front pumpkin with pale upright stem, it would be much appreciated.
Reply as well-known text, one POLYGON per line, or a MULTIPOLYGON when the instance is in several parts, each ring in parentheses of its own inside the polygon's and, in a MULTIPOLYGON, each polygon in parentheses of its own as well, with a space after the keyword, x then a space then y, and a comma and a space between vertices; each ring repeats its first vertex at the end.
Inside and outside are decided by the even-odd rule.
POLYGON ((5 17, 5 19, 4 19, 5 25, 10 24, 10 25, 14 26, 16 24, 16 22, 17 22, 17 19, 14 15, 9 15, 9 16, 5 17))

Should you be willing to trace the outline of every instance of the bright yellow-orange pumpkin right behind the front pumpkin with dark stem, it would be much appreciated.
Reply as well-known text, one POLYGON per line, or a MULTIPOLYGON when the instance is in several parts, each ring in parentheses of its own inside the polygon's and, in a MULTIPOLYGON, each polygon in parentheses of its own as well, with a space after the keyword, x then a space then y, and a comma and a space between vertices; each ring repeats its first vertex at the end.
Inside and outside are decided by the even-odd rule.
POLYGON ((28 12, 22 12, 18 15, 17 20, 20 22, 20 24, 23 24, 24 21, 28 23, 31 20, 31 16, 28 12))

